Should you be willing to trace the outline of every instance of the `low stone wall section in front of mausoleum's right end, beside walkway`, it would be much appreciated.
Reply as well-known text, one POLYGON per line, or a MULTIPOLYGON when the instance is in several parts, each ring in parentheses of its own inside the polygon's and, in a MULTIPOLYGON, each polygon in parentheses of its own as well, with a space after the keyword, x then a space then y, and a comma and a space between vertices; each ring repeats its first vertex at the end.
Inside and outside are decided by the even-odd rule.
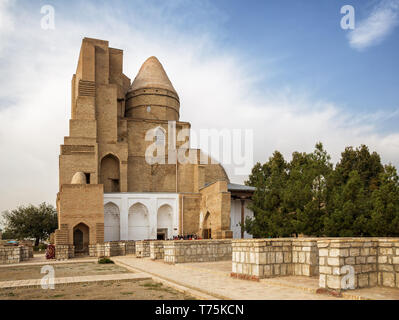
POLYGON ((164 242, 167 263, 231 260, 231 240, 176 240, 164 242))

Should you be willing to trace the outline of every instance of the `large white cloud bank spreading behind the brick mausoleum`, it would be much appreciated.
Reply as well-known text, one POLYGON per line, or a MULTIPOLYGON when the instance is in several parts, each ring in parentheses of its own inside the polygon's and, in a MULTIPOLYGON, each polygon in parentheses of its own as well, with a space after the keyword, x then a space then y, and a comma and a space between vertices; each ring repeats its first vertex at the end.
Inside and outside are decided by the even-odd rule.
MULTIPOLYGON (((359 121, 357 115, 306 93, 257 90, 258 78, 252 73, 256 66, 217 47, 212 30, 187 34, 173 25, 153 26, 148 21, 156 20, 148 6, 144 16, 137 8, 133 17, 123 19, 108 6, 72 10, 84 15, 68 19, 67 12, 56 7, 56 29, 47 31, 40 29, 39 7, 20 8, 18 16, 1 11, 12 18, 18 32, 6 33, 1 42, 0 211, 55 203, 59 145, 68 134, 70 80, 84 36, 106 39, 110 46, 123 49, 124 73, 131 79, 147 57, 157 56, 180 95, 181 120, 190 121, 196 131, 252 128, 255 161, 265 161, 274 150, 287 157, 295 150, 311 151, 322 141, 334 161, 345 146, 365 143, 384 161, 398 164, 398 133, 379 134, 373 115, 359 121)), ((162 10, 157 7, 156 16, 173 21, 172 13, 162 10)), ((231 167, 227 169, 231 172, 231 167)), ((233 176, 232 181, 244 178, 233 176)))

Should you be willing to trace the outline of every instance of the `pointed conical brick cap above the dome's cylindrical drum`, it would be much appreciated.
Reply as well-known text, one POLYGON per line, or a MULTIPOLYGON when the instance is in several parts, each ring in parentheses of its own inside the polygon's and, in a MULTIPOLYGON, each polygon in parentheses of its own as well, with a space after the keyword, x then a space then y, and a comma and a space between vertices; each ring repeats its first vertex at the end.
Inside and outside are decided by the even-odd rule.
POLYGON ((143 88, 166 89, 177 94, 162 64, 156 57, 150 57, 143 63, 129 91, 143 88))

